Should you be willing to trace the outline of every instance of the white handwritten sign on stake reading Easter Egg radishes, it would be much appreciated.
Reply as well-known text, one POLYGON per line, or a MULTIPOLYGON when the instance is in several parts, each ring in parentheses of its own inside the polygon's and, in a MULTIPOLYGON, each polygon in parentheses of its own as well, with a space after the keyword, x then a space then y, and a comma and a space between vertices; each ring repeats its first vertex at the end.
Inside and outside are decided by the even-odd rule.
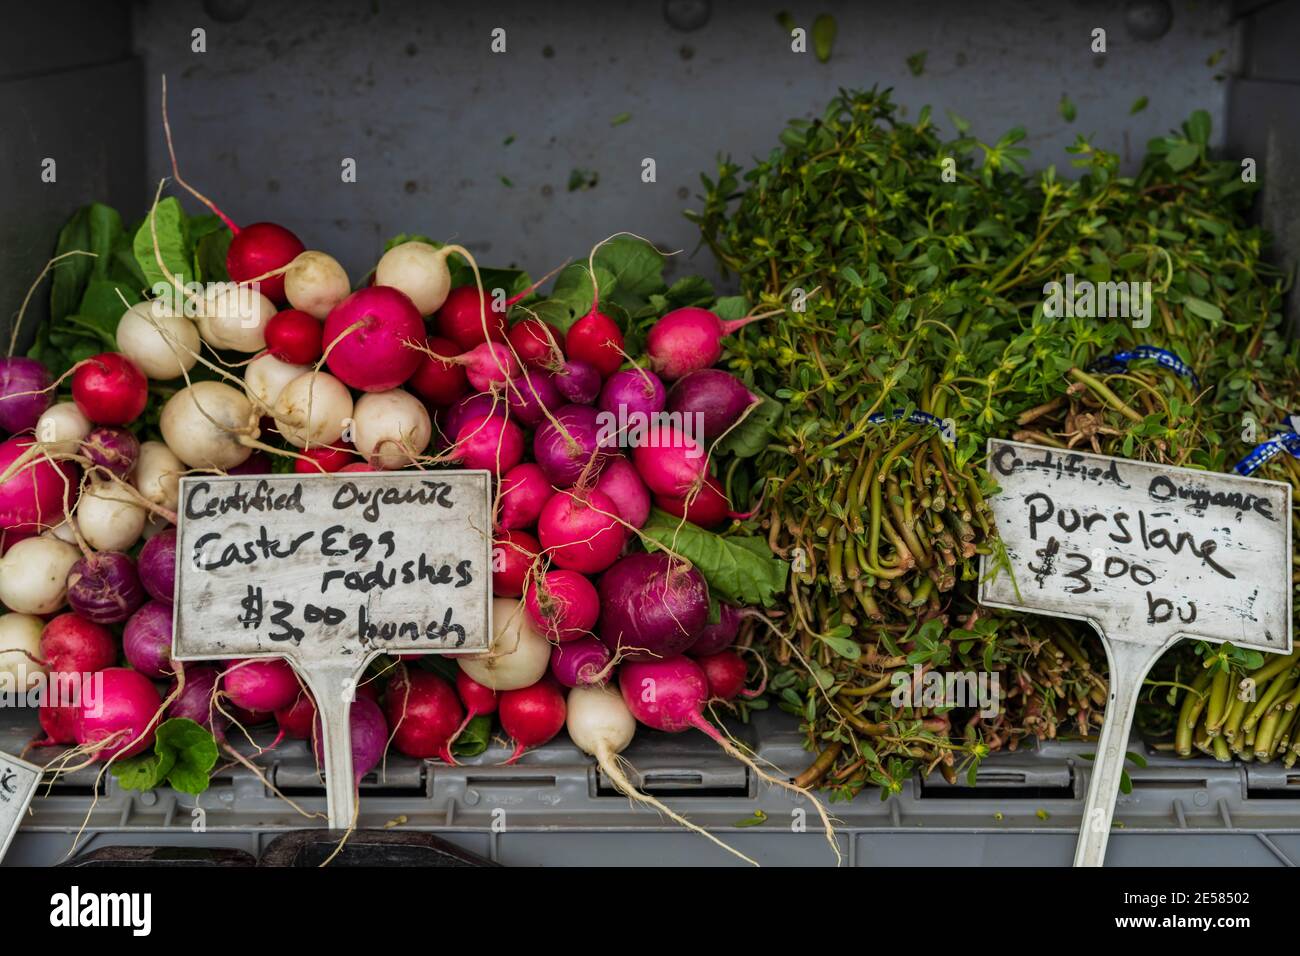
POLYGON ((330 826, 348 826, 367 662, 488 649, 489 472, 194 476, 179 498, 174 657, 287 658, 321 715, 330 826))

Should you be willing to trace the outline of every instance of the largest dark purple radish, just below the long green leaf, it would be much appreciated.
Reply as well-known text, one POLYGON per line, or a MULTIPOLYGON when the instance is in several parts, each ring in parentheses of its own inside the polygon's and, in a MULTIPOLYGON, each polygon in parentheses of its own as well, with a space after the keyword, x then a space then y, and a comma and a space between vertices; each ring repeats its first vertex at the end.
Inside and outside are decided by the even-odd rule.
POLYGON ((601 578, 601 640, 629 661, 673 657, 708 620, 708 585, 662 551, 620 558, 601 578))

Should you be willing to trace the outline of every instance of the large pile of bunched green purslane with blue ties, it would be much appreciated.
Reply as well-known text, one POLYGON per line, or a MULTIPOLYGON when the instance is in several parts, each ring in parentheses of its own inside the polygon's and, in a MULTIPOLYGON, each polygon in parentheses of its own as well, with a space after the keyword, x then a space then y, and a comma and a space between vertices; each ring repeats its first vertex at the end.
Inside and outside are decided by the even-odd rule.
MULTIPOLYGON (((818 754, 801 782, 838 796, 936 767, 974 782, 992 749, 1100 724, 1086 626, 975 602, 998 548, 989 436, 1228 471, 1300 411, 1287 280, 1249 224, 1253 178, 1208 152, 1208 114, 1153 139, 1134 177, 1080 138, 1065 178, 1023 173, 1023 130, 984 143, 950 114, 944 139, 928 108, 902 113, 887 91, 842 92, 744 173, 720 160, 690 213, 755 307, 785 310, 724 360, 785 408, 745 477, 764 489, 751 522, 796 570, 797 624, 763 646, 818 754), (1149 281, 1149 323, 1053 317, 1045 285, 1067 273, 1149 281), (918 666, 998 671, 1001 713, 900 710, 893 678, 918 666)), ((1294 450, 1256 473, 1300 486, 1294 450)), ((1140 719, 1180 754, 1290 766, 1297 680, 1294 656, 1180 646, 1140 719)))

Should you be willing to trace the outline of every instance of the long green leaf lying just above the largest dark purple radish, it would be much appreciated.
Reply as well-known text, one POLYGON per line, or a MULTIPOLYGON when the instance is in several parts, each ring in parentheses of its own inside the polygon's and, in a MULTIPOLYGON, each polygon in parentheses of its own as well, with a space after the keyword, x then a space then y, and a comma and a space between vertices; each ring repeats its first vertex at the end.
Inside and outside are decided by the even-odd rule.
POLYGON ((789 564, 774 557, 760 537, 723 537, 659 509, 641 532, 694 564, 723 601, 771 607, 785 592, 789 564))

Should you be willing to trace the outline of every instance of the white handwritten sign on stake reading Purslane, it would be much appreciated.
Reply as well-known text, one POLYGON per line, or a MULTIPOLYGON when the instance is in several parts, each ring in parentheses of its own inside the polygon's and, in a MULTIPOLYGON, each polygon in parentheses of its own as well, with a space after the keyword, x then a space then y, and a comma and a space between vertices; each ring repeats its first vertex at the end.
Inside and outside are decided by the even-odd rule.
POLYGON ((1291 486, 1123 458, 988 444, 1011 574, 985 555, 980 602, 1092 623, 1110 663, 1076 865, 1105 858, 1132 711, 1182 637, 1291 650, 1291 486))

